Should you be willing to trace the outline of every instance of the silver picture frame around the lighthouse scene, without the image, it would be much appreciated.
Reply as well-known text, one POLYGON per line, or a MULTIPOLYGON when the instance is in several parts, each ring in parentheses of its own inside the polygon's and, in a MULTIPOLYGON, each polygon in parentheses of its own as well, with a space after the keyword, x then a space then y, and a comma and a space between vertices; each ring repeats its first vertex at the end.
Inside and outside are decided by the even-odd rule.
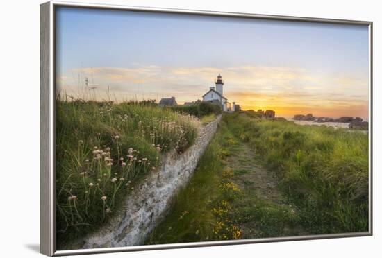
POLYGON ((109 4, 72 3, 49 1, 40 5, 40 252, 48 256, 83 255, 105 252, 126 252, 138 250, 160 250, 167 248, 191 248, 202 246, 237 245, 244 243, 265 243, 278 241, 299 241, 312 239, 333 239, 354 236, 372 236, 372 22, 257 15, 238 12, 213 12, 204 10, 179 10, 169 8, 148 8, 137 6, 116 6, 109 4), (240 239, 230 241, 209 241, 197 243, 172 243, 152 246, 126 246, 118 248, 96 248, 81 250, 56 250, 56 153, 55 153, 55 10, 58 7, 97 8, 108 10, 134 10, 140 12, 176 13, 185 15, 208 15, 215 17, 241 17, 248 19, 271 19, 294 22, 316 22, 328 24, 357 24, 369 28, 369 230, 345 234, 319 234, 309 236, 286 236, 264 239, 240 239))

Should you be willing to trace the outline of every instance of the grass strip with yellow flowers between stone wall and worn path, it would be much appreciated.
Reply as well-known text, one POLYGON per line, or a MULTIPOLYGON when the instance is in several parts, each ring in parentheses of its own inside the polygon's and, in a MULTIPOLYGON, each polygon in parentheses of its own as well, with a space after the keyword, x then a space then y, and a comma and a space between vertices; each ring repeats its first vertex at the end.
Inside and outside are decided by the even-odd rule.
POLYGON ((232 173, 224 171, 221 162, 226 130, 221 123, 189 184, 178 192, 165 220, 151 232, 146 244, 240 238, 241 232, 230 215, 238 188, 229 182, 232 173))

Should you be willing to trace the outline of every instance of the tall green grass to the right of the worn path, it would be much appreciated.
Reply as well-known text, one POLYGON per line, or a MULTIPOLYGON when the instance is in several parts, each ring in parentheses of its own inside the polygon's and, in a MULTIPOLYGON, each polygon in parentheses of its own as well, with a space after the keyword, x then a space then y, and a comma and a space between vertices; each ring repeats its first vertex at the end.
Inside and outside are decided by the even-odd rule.
POLYGON ((311 234, 368 230, 367 135, 242 114, 224 119, 277 173, 311 234))

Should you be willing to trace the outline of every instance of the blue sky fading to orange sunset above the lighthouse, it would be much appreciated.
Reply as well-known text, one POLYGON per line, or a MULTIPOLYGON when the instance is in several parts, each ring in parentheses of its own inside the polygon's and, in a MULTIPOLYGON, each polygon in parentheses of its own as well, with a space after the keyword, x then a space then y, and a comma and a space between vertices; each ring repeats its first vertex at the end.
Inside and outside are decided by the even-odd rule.
POLYGON ((244 110, 367 119, 368 47, 360 25, 60 7, 56 87, 74 98, 183 104, 221 74, 224 96, 244 110))

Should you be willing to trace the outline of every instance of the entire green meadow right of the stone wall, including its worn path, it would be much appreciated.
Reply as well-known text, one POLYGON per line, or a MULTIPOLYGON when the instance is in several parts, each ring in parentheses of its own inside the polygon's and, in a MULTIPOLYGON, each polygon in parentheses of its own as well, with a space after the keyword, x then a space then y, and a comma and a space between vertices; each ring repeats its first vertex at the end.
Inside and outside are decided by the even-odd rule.
POLYGON ((146 243, 367 230, 367 135, 237 112, 146 243))

